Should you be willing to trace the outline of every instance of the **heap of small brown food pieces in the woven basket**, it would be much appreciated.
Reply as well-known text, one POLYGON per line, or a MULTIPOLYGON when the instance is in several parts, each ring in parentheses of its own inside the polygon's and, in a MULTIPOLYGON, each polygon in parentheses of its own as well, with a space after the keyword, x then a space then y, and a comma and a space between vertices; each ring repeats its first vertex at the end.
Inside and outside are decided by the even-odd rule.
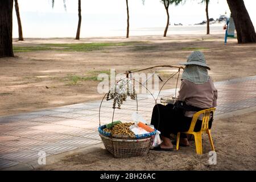
POLYGON ((105 128, 103 130, 108 133, 112 133, 112 135, 129 135, 131 137, 134 137, 133 131, 130 130, 131 125, 134 125, 134 123, 118 123, 110 129, 105 128))

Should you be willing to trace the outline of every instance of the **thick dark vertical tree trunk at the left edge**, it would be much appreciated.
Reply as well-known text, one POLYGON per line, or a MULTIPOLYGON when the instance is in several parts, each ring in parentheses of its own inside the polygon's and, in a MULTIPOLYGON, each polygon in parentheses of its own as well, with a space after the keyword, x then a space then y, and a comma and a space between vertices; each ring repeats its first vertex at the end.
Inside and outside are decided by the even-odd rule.
POLYGON ((0 57, 13 57, 13 0, 0 1, 0 57))

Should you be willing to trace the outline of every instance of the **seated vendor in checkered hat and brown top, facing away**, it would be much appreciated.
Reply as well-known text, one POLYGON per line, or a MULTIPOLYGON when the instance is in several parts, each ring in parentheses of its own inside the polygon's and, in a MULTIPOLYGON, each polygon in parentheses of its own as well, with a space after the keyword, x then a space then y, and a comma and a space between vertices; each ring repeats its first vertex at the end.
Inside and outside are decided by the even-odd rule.
MULTIPOLYGON (((214 87, 212 78, 208 75, 205 56, 200 51, 192 52, 188 56, 183 74, 179 96, 174 104, 154 106, 152 111, 151 125, 154 125, 161 134, 163 142, 153 150, 172 151, 173 145, 170 134, 188 131, 191 125, 193 114, 197 111, 216 107, 217 89, 214 87)), ((202 121, 197 120, 195 130, 201 129, 202 121)), ((209 129, 212 126, 213 118, 209 121, 209 129)), ((189 146, 187 135, 180 134, 180 146, 189 146)))

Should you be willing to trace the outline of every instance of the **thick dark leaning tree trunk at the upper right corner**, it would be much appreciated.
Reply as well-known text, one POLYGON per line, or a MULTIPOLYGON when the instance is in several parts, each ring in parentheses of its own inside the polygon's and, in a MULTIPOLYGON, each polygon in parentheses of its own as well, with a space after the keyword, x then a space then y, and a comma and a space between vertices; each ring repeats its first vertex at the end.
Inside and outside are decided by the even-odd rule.
POLYGON ((256 34, 243 0, 227 0, 237 31, 238 44, 255 43, 256 34))

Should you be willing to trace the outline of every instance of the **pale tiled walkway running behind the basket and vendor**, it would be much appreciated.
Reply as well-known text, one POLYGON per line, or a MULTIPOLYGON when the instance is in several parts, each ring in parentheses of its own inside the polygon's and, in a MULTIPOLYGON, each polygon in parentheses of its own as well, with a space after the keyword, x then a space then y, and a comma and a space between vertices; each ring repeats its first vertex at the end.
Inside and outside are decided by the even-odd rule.
MULTIPOLYGON (((216 114, 256 106, 256 76, 214 83, 218 89, 216 114)), ((162 90, 160 96, 174 93, 162 90)), ((57 107, 0 117, 0 169, 38 159, 39 151, 59 154, 101 142, 97 127, 100 101, 57 107)), ((154 100, 149 94, 138 96, 139 113, 150 121, 154 100)), ((136 102, 128 100, 114 119, 131 121, 136 102)), ((101 122, 112 119, 112 101, 104 101, 101 122)))

